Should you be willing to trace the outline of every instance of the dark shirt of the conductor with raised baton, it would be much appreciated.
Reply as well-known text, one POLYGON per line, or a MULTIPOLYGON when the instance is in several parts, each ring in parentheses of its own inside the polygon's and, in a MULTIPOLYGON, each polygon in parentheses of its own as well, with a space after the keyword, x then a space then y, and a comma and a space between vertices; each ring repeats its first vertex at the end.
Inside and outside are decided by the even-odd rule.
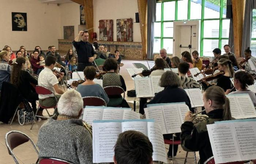
POLYGON ((90 63, 88 58, 92 57, 94 54, 97 54, 93 45, 89 42, 76 42, 75 40, 72 42, 74 47, 76 48, 76 52, 78 54, 78 63, 90 63))

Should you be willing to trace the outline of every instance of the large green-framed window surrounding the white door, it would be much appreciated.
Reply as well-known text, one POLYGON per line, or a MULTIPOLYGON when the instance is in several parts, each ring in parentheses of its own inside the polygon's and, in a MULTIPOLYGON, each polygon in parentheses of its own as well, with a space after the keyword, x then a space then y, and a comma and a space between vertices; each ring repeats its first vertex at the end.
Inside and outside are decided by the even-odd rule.
POLYGON ((173 53, 173 21, 201 20, 200 55, 213 56, 214 48, 220 48, 224 53, 223 46, 228 43, 230 22, 226 19, 226 5, 227 0, 162 0, 158 2, 157 19, 154 23, 154 52, 159 53, 161 48, 165 48, 167 54, 173 53))

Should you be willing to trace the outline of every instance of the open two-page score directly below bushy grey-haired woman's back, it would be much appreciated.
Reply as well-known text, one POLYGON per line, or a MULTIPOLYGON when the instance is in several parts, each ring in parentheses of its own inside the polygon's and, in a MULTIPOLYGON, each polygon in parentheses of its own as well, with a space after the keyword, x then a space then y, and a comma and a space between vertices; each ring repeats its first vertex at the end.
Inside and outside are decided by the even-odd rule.
POLYGON ((184 103, 148 104, 144 108, 146 119, 154 119, 159 124, 163 134, 181 132, 185 114, 189 111, 184 103))

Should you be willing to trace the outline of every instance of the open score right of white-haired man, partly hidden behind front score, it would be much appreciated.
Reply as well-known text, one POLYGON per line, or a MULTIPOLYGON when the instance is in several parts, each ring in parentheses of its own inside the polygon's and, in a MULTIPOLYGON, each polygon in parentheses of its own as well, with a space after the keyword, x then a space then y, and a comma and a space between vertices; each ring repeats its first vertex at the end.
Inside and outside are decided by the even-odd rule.
POLYGON ((94 120, 133 120, 140 119, 140 114, 131 108, 114 108, 105 106, 86 106, 83 121, 92 125, 94 120))

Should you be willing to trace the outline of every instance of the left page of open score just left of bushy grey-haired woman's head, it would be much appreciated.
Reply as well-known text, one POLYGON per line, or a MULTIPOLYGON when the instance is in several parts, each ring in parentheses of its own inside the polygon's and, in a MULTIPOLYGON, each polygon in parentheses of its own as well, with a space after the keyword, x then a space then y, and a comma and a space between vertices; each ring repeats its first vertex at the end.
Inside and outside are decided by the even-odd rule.
POLYGON ((134 78, 136 97, 153 97, 150 78, 134 78))

